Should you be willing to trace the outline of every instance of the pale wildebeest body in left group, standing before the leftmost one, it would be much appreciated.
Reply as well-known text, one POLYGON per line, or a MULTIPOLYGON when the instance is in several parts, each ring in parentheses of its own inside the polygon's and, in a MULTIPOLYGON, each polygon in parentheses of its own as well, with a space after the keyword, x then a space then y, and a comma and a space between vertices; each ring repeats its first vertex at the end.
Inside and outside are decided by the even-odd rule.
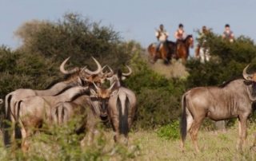
POLYGON ((58 96, 30 96, 19 100, 15 104, 12 124, 19 124, 22 133, 22 150, 26 151, 28 143, 26 138, 30 136, 35 128, 40 128, 43 123, 50 122, 52 108, 56 104, 65 101, 72 101, 75 96, 86 92, 88 87, 76 86, 69 88, 58 96))

